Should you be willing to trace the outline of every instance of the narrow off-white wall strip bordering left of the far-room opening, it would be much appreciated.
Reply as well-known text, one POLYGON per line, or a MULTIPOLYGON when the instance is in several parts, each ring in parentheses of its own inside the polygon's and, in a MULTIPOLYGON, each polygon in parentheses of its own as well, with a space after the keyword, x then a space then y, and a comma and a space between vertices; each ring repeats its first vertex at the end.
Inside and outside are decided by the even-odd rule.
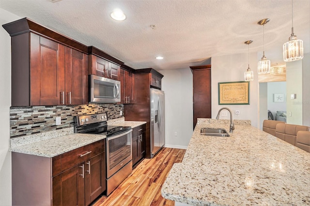
POLYGON ((267 93, 268 86, 267 82, 259 83, 260 87, 260 129, 263 130, 263 120, 268 119, 268 103, 267 103, 267 93))

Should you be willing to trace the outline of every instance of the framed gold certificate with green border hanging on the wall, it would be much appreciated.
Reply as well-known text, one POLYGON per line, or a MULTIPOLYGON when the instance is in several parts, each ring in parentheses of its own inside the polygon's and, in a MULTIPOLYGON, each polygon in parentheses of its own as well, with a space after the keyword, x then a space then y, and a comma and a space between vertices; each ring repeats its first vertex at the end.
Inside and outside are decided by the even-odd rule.
POLYGON ((218 104, 250 104, 250 83, 219 82, 218 104))

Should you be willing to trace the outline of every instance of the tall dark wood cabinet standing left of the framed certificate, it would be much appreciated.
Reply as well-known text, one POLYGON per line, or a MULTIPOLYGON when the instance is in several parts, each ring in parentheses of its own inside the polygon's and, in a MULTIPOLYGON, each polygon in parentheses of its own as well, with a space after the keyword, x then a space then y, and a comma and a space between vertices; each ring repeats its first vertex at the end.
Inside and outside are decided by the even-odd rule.
POLYGON ((197 118, 211 118, 211 65, 191 66, 193 73, 193 128, 197 118))

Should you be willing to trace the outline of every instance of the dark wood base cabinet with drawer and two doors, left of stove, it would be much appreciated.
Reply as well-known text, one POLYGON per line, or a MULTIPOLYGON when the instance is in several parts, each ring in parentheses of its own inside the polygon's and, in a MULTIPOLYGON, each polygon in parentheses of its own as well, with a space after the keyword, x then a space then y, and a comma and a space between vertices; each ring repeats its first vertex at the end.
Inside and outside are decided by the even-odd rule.
POLYGON ((106 190, 104 140, 53 158, 12 152, 12 160, 13 205, 84 206, 106 190))

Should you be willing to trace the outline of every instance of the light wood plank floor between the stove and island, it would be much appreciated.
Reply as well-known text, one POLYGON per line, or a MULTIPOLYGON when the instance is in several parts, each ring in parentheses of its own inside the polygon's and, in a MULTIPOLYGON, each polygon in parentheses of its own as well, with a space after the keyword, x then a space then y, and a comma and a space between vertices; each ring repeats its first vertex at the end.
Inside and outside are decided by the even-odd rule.
POLYGON ((174 206, 161 196, 161 187, 175 162, 181 162, 185 149, 164 147, 152 159, 144 159, 109 197, 93 206, 174 206))

